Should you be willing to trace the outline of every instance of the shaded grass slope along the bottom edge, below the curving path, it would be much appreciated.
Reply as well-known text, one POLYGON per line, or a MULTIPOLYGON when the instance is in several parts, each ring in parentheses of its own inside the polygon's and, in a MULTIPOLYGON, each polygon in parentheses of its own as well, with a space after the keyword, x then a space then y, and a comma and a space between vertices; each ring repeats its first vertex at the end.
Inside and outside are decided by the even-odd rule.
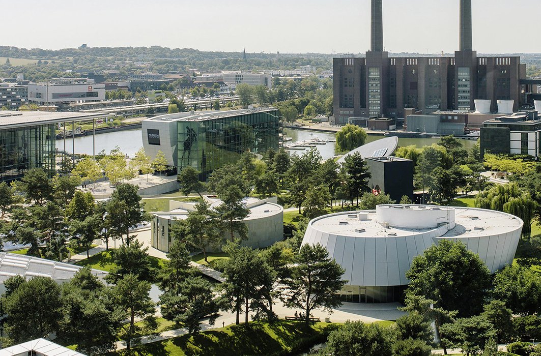
MULTIPOLYGON (((136 347, 143 355, 285 355, 301 352, 324 342, 339 324, 303 323, 279 320, 230 325, 197 335, 153 342, 136 347)), ((123 353, 120 353, 123 354, 123 353)))

